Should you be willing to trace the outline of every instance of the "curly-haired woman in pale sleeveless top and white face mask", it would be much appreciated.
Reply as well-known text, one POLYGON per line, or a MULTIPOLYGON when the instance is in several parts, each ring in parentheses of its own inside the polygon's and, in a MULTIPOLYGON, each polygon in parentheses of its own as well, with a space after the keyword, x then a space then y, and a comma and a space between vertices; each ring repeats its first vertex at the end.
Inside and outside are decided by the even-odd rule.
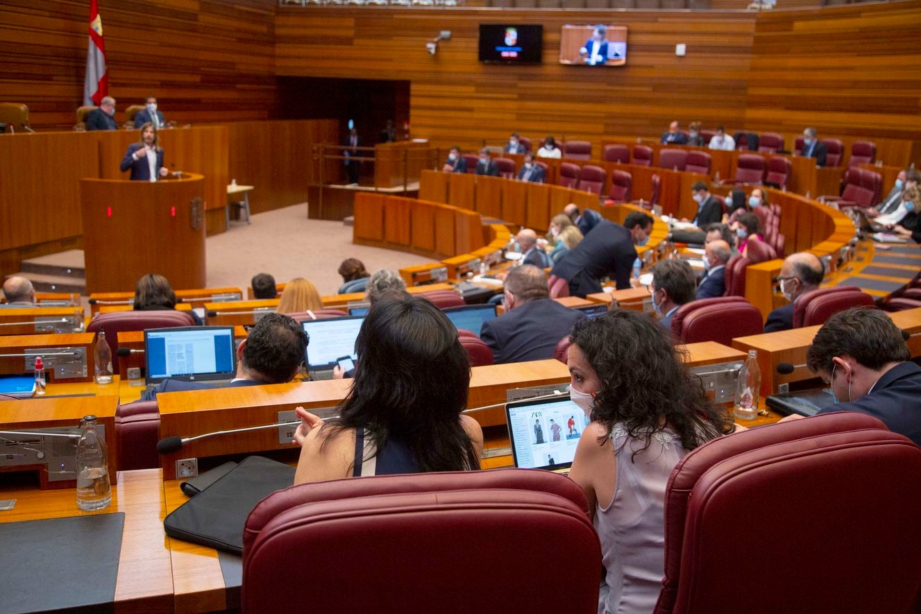
POLYGON ((647 315, 617 309, 576 323, 570 396, 592 421, 569 477, 589 498, 606 575, 598 611, 650 612, 664 567, 665 488, 688 451, 731 421, 647 315))

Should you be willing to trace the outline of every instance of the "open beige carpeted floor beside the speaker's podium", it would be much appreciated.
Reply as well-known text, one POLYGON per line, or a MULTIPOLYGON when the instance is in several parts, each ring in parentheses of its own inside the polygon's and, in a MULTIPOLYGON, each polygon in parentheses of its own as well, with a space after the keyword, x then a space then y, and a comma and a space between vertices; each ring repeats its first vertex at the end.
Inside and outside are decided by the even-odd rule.
POLYGON ((295 277, 313 282, 321 295, 336 293, 342 278, 336 272, 345 258, 365 263, 368 272, 400 269, 431 260, 402 251, 352 244, 352 226, 307 218, 307 205, 252 216, 252 224, 231 222, 230 229, 205 241, 207 285, 246 287, 257 272, 278 283, 295 277))

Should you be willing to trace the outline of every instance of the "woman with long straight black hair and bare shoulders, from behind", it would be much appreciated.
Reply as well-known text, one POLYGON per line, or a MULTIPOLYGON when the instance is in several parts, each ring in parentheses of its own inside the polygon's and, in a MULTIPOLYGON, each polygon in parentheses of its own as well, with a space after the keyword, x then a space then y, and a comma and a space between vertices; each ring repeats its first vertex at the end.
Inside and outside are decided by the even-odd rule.
POLYGON ((295 483, 479 469, 480 425, 467 406, 470 362, 450 320, 425 298, 383 300, 356 339, 355 379, 339 417, 297 408, 295 483))

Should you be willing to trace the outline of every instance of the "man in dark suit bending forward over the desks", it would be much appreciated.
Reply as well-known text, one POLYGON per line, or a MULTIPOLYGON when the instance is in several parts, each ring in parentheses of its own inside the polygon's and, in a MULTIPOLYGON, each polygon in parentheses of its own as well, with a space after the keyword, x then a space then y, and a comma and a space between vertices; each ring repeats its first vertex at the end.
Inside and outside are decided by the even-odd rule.
POLYGON ((624 226, 601 220, 574 249, 556 263, 551 274, 569 282, 569 294, 585 297, 601 291, 601 278, 614 280, 618 290, 630 287, 637 245, 646 245, 652 217, 627 215, 624 226))

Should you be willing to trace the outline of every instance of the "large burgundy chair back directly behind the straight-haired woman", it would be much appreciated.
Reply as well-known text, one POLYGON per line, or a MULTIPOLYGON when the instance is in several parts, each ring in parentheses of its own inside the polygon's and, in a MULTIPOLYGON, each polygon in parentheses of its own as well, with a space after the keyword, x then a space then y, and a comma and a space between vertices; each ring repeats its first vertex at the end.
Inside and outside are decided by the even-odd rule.
POLYGON ((293 486, 256 505, 243 532, 240 605, 592 612, 600 569, 585 494, 565 476, 494 469, 348 478, 293 486), (299 570, 284 594, 282 569, 299 570))

